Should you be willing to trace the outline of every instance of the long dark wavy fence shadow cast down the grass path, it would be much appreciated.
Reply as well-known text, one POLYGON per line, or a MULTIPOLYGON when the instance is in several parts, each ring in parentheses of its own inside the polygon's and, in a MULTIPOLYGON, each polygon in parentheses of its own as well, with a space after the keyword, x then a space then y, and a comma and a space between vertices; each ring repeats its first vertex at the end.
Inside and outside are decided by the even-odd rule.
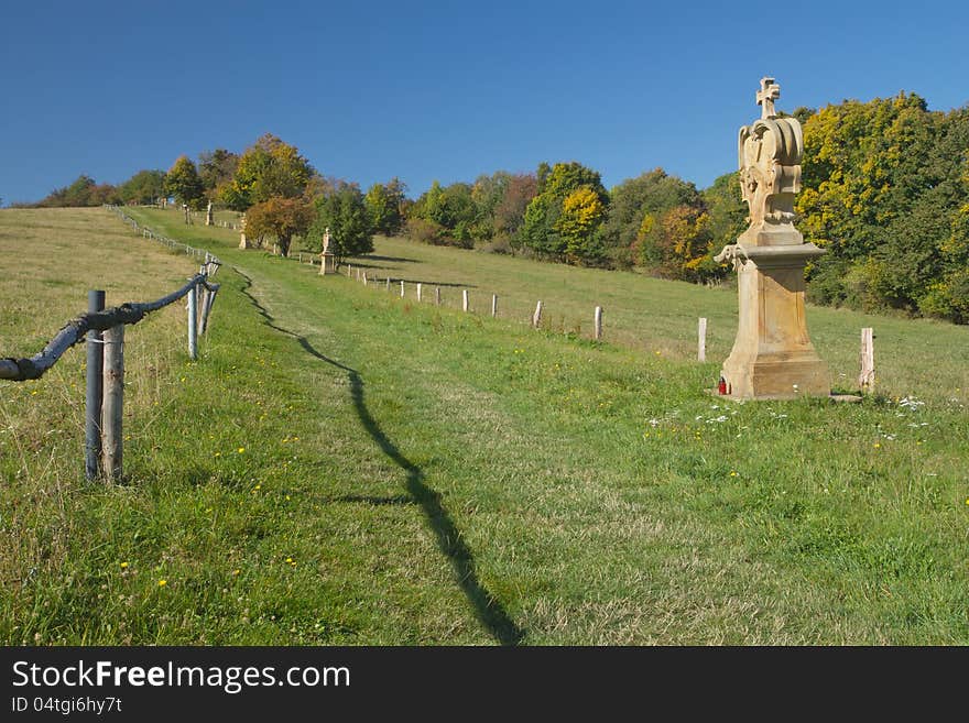
MULTIPOLYGON (((460 530, 450 518, 447 510, 440 503, 440 494, 427 486, 424 472, 416 464, 411 462, 401 453, 393 441, 383 432, 378 421, 367 408, 367 402, 363 392, 363 380, 360 374, 349 366, 335 361, 314 349, 313 344, 306 337, 300 336, 288 329, 283 329, 275 324, 275 319, 259 303, 259 300, 250 293, 252 280, 242 273, 239 269, 235 269, 244 281, 246 286, 242 293, 249 298, 259 315, 265 324, 287 337, 295 339, 300 346, 309 355, 330 364, 347 373, 350 381, 350 395, 353 399, 353 407, 360 424, 370 435, 370 438, 380 447, 381 451, 386 454, 393 462, 400 467, 407 475, 407 493, 410 495, 407 503, 417 503, 424 512, 427 522, 434 529, 437 537, 438 549, 448 558, 458 584, 467 596, 468 601, 475 606, 478 620, 491 633, 491 635, 501 645, 519 645, 524 639, 524 631, 522 631, 514 621, 505 612, 504 606, 481 584, 478 580, 478 573, 475 569, 475 557, 468 549, 465 538, 460 530)), ((400 497, 357 497, 353 495, 340 497, 335 502, 368 502, 370 504, 405 504, 400 497)))

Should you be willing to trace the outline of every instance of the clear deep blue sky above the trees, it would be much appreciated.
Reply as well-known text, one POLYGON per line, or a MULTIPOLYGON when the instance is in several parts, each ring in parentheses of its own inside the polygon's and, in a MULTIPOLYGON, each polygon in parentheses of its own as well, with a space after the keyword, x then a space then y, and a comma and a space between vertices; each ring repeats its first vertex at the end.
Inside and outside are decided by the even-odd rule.
POLYGON ((272 132, 412 196, 541 161, 703 188, 777 107, 969 102, 966 2, 6 2, 0 198, 120 183, 272 132))

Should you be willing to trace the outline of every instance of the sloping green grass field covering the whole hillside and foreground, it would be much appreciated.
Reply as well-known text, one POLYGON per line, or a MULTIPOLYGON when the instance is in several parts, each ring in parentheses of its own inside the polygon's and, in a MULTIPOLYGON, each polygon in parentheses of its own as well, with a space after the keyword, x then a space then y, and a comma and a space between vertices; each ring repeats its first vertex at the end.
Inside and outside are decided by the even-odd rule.
MULTIPOLYGON (((705 393, 726 289, 401 240, 351 261, 437 308, 129 212, 217 253, 224 291, 197 362, 181 307, 129 331, 123 484, 83 481, 81 350, 0 385, 3 642, 969 643, 969 330, 810 308, 845 390, 875 328, 883 394, 734 405, 705 393)), ((4 210, 0 251, 4 355, 88 287, 194 271, 101 209, 4 210)))

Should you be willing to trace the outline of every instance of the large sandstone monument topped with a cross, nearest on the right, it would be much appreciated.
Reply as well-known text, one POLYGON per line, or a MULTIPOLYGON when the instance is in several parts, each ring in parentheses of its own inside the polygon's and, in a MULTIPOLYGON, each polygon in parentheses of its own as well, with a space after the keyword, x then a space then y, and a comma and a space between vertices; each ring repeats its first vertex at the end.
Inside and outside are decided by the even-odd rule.
POLYGON ((824 249, 794 228, 804 135, 796 118, 777 118, 781 87, 762 78, 761 118, 740 129, 740 186, 750 227, 717 261, 738 272, 740 319, 723 362, 721 393, 736 399, 781 399, 830 394, 828 366, 807 336, 804 267, 824 249))

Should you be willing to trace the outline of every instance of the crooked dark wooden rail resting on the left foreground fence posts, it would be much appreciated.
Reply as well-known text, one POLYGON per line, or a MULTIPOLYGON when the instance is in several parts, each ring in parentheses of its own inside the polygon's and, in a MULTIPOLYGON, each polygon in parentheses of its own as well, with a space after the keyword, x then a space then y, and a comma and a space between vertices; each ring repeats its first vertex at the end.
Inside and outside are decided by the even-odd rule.
POLYGON ((84 341, 88 331, 107 331, 118 325, 138 324, 148 314, 177 302, 196 286, 207 288, 213 294, 219 291, 219 284, 209 282, 208 274, 196 274, 185 286, 155 302, 128 303, 104 311, 81 314, 64 325, 40 353, 29 359, 0 359, 0 379, 11 382, 40 379, 57 363, 65 351, 84 341))

